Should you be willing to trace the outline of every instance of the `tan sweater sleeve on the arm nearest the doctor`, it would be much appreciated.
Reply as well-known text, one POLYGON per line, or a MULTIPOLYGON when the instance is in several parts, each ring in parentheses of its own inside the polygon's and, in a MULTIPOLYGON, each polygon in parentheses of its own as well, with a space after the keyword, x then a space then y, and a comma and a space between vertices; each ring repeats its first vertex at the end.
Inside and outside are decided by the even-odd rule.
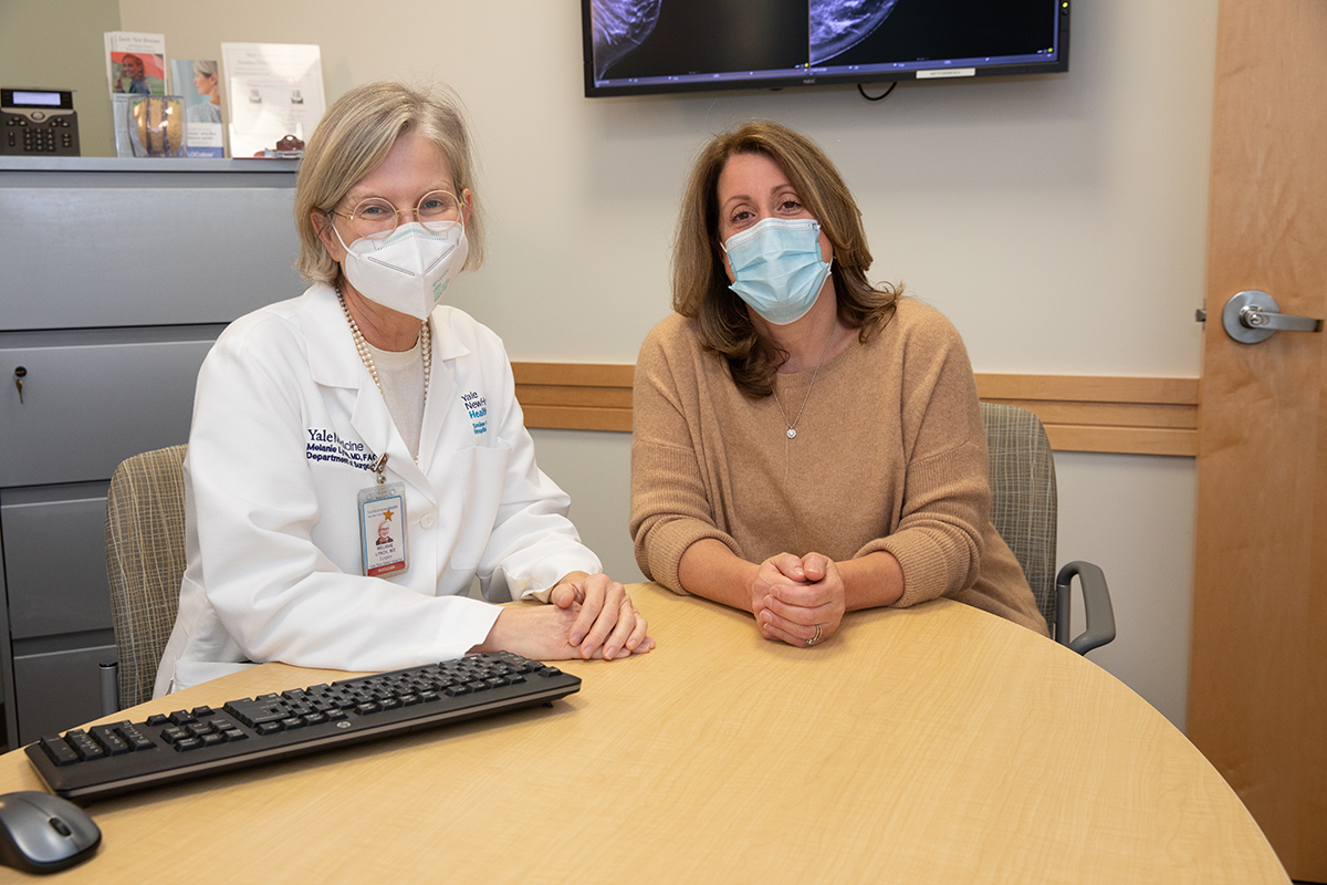
POLYGON ((735 556, 742 549, 719 528, 710 504, 697 456, 697 377, 685 357, 670 360, 675 354, 662 332, 667 322, 650 330, 636 361, 630 531, 641 572, 685 594, 677 572, 686 548, 713 537, 735 556))

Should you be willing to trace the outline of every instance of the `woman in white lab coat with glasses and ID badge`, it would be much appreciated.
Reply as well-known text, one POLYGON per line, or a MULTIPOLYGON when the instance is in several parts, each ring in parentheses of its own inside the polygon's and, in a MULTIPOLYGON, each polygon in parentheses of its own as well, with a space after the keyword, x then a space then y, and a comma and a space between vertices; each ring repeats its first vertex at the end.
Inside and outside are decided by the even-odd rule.
POLYGON ((370 84, 318 122, 295 196, 313 285, 235 321, 199 373, 158 697, 263 661, 653 647, 535 464, 502 341, 443 303, 483 259, 472 169, 441 89, 370 84), (491 601, 549 605, 470 598, 476 576, 491 601))

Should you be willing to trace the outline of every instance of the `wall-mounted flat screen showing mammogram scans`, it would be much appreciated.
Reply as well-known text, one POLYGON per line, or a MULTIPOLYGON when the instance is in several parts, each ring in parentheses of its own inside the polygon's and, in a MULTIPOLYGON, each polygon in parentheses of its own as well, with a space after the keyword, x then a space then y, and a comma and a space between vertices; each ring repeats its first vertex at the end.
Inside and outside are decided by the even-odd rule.
POLYGON ((585 94, 1066 72, 1070 0, 581 0, 585 94))

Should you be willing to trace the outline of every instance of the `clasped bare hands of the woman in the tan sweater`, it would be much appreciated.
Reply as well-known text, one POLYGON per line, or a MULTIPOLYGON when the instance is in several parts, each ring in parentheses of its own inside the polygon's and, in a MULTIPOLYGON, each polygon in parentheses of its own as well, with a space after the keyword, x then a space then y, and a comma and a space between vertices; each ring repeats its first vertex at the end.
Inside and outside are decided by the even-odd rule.
POLYGON ((756 567, 748 589, 760 634, 788 645, 824 642, 847 610, 839 567, 821 553, 771 556, 756 567))

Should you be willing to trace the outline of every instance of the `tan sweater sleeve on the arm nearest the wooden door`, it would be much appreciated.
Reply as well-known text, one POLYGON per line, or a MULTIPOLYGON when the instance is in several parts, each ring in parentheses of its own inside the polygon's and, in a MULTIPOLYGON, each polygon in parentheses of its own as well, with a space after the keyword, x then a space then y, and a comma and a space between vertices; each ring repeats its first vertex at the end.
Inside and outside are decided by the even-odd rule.
POLYGON ((904 573, 896 606, 954 596, 981 571, 990 515, 986 433, 962 338, 938 313, 904 341, 904 500, 897 527, 857 556, 886 551, 904 573))

